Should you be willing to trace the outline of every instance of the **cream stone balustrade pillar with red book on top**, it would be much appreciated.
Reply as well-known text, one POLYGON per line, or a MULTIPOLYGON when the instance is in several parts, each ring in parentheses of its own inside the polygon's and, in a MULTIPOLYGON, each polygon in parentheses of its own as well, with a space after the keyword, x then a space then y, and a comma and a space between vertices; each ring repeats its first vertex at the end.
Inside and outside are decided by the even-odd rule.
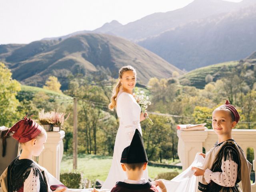
POLYGON ((177 131, 178 156, 182 163, 182 170, 186 170, 194 161, 196 153, 202 152, 203 142, 207 138, 207 132, 200 131, 177 131))

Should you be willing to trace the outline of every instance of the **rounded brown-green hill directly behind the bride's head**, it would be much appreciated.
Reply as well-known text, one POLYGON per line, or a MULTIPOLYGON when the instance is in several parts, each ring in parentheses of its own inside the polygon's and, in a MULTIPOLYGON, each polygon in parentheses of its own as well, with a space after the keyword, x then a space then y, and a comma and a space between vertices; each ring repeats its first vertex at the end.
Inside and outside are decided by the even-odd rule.
POLYGON ((48 76, 54 75, 62 83, 62 88, 67 88, 70 74, 86 75, 97 71, 97 66, 109 68, 117 78, 120 67, 132 65, 137 70, 140 84, 146 84, 151 77, 168 78, 174 71, 183 74, 145 48, 106 34, 36 41, 0 54, 0 60, 12 70, 14 79, 32 86, 42 86, 48 76))

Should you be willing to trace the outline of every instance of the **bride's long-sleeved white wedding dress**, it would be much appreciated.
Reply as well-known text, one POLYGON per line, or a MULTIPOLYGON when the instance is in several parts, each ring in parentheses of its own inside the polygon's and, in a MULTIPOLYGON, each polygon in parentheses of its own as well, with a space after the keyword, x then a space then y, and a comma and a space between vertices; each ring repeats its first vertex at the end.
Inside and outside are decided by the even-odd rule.
MULTIPOLYGON (((119 128, 116 134, 114 154, 108 177, 102 189, 112 189, 116 182, 127 179, 126 172, 122 170, 120 159, 124 148, 130 145, 136 129, 142 134, 140 127, 140 106, 131 94, 122 92, 116 100, 116 112, 119 118, 119 128)), ((143 177, 148 181, 148 170, 143 177)))

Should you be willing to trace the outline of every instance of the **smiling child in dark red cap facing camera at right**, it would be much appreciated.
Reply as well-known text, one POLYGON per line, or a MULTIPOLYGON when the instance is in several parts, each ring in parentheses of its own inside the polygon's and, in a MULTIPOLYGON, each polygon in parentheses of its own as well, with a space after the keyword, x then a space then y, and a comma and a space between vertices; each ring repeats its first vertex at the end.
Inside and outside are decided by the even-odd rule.
POLYGON ((232 138, 232 129, 240 115, 228 100, 212 112, 212 128, 218 142, 204 156, 202 168, 192 167, 194 175, 200 176, 198 189, 205 192, 240 192, 242 181, 244 192, 251 192, 250 170, 252 164, 246 160, 243 150, 232 138))

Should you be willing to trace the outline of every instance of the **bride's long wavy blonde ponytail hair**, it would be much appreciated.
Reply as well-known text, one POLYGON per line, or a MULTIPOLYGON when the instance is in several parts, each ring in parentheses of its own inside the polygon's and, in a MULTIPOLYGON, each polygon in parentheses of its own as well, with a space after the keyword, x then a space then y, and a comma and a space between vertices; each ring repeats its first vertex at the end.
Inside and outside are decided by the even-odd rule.
POLYGON ((119 72, 118 72, 118 76, 119 76, 118 77, 118 83, 116 84, 116 86, 112 90, 111 102, 108 105, 108 108, 110 110, 113 110, 114 107, 116 106, 116 97, 117 97, 118 92, 120 91, 120 87, 122 86, 120 79, 122 78, 124 72, 126 72, 126 71, 133 71, 135 73, 135 76, 136 76, 136 70, 130 65, 124 66, 119 70, 119 72))

